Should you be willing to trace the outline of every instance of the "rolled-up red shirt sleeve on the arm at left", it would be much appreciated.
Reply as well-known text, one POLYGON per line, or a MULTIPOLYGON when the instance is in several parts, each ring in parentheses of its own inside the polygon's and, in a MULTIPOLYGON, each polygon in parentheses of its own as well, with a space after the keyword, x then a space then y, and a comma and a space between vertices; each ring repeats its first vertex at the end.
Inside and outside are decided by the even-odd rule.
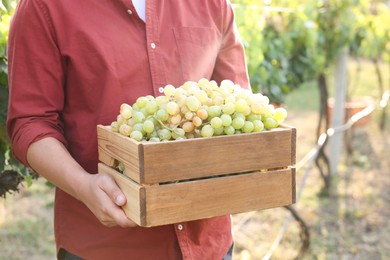
POLYGON ((8 42, 7 132, 13 155, 28 166, 32 142, 54 137, 66 145, 61 123, 63 61, 48 12, 40 0, 21 0, 8 42))

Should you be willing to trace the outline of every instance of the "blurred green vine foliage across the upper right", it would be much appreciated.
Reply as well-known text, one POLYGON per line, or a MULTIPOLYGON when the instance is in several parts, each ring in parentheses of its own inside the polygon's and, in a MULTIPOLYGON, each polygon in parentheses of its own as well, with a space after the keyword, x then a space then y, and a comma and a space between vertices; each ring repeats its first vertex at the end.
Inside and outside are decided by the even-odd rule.
POLYGON ((369 0, 235 0, 254 92, 274 103, 326 74, 340 51, 390 59, 390 11, 369 0), (264 4, 264 3, 266 4, 264 4), (370 11, 371 10, 371 11, 370 11))

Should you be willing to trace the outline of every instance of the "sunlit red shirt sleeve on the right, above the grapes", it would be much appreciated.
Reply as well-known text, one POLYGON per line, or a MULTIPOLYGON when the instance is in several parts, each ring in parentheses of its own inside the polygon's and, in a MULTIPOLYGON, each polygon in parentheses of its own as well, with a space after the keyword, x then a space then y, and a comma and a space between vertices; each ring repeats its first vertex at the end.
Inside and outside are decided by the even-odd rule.
POLYGON ((250 89, 244 45, 234 20, 234 12, 230 1, 222 0, 221 10, 223 42, 212 78, 217 82, 230 79, 241 87, 250 89))

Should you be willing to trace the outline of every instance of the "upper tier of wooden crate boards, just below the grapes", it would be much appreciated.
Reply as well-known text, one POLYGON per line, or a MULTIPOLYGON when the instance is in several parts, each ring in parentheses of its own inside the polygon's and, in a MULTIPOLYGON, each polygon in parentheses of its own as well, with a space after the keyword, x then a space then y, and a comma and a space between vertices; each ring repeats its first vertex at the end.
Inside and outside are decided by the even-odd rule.
POLYGON ((142 143, 98 126, 99 160, 125 163, 141 184, 188 180, 295 164, 295 128, 162 143, 142 143), (115 161, 114 160, 114 161, 115 161))

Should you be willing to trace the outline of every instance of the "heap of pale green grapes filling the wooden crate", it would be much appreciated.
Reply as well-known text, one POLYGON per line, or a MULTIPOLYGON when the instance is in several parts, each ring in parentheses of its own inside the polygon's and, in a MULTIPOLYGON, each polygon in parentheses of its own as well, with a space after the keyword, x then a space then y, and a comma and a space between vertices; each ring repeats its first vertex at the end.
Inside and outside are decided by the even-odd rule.
POLYGON ((278 127, 284 108, 274 108, 268 97, 243 89, 230 80, 188 81, 164 87, 164 95, 142 96, 122 104, 111 129, 136 141, 168 141, 261 132, 278 127))

